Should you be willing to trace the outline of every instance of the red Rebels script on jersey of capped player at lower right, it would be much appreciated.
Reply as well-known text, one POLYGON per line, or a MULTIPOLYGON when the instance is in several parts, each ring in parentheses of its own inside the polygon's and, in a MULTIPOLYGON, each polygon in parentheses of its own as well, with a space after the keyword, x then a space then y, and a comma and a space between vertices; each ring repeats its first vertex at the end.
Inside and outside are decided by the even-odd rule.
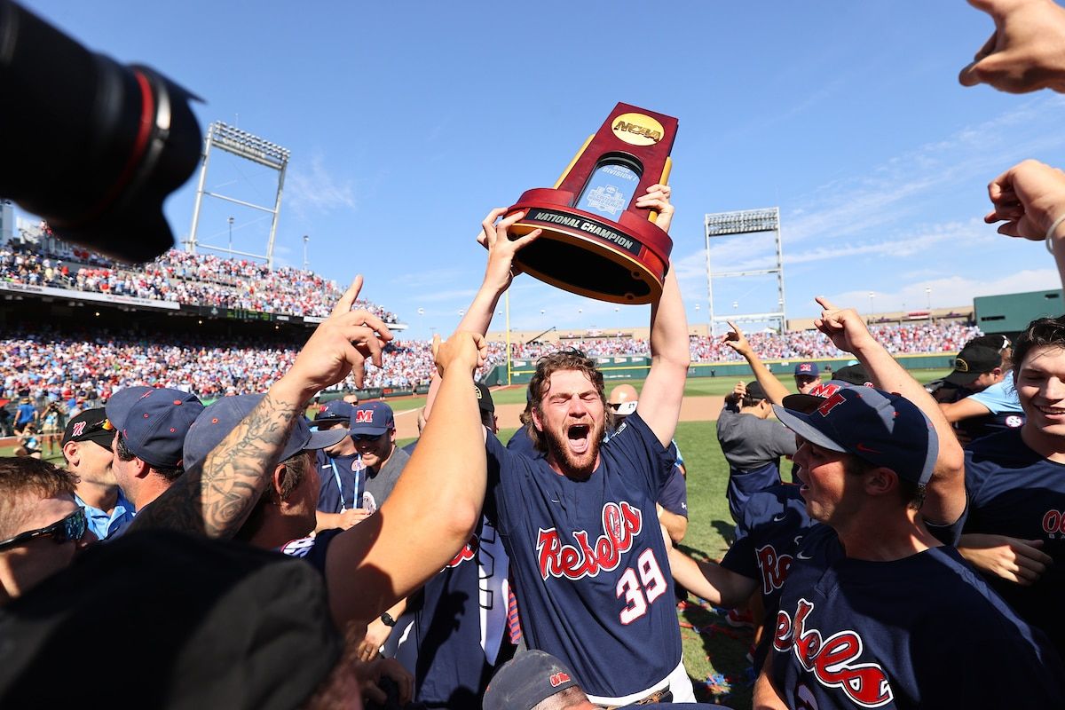
POLYGON ((783 609, 776 613, 773 647, 794 650, 799 663, 825 688, 838 688, 864 708, 879 708, 895 699, 887 674, 879 663, 855 663, 862 656, 862 637, 854 631, 837 631, 821 639, 817 629, 806 628, 814 605, 799 599, 794 625, 783 609))

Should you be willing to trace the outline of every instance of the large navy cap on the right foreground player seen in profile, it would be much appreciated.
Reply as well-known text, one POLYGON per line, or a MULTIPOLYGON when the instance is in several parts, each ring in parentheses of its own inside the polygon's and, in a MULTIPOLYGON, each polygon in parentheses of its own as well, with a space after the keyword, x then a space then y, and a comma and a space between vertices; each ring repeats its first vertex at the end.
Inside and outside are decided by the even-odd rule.
POLYGON ((924 413, 897 394, 845 386, 804 413, 773 404, 776 418, 803 439, 853 453, 921 485, 932 478, 939 440, 924 413))

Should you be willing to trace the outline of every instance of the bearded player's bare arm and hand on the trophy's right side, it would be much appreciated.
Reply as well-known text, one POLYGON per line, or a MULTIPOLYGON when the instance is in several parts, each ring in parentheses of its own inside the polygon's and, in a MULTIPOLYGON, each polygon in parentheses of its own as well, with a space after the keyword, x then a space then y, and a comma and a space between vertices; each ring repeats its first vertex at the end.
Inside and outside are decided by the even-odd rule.
MULTIPOLYGON (((652 185, 648 194, 636 201, 636 207, 657 211, 655 224, 668 230, 673 220, 669 196, 669 185, 652 185)), ((666 274, 661 297, 651 306, 651 370, 636 406, 636 411, 662 446, 669 446, 673 440, 690 364, 688 318, 671 266, 666 274)))

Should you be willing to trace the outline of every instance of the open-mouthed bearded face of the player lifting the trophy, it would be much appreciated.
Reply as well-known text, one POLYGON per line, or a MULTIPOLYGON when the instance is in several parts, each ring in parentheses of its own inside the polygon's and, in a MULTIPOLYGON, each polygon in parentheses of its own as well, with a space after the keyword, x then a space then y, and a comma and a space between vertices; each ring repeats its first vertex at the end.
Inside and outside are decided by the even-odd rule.
POLYGON ((595 470, 606 416, 603 396, 585 373, 552 373, 539 411, 532 410, 532 420, 546 437, 548 453, 561 473, 586 478, 595 470))

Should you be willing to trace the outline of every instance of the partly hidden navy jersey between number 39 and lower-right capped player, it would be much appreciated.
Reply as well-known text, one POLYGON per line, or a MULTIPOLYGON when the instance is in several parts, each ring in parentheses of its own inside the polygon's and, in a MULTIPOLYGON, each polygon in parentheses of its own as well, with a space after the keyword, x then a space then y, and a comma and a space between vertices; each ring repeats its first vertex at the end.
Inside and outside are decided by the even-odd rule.
MULTIPOLYGON (((798 485, 777 483, 752 495, 743 508, 736 525, 736 542, 725 552, 721 566, 758 580, 767 629, 773 628, 781 590, 796 549, 816 525, 819 524, 806 514, 806 502, 799 495, 798 485)), ((755 650, 755 668, 760 668, 766 660, 769 640, 769 633, 761 634, 761 643, 755 650)))

